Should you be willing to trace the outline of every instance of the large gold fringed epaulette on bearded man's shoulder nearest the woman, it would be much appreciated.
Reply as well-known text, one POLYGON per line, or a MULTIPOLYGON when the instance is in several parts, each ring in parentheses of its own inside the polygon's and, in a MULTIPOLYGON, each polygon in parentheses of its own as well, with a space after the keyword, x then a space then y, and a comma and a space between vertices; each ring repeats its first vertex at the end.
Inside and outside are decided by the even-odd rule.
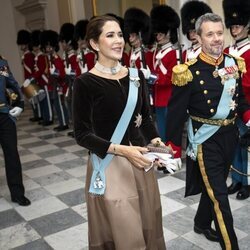
POLYGON ((196 62, 197 59, 192 59, 184 64, 175 65, 173 67, 172 83, 176 86, 185 86, 188 82, 191 82, 193 80, 193 75, 188 67, 196 62))

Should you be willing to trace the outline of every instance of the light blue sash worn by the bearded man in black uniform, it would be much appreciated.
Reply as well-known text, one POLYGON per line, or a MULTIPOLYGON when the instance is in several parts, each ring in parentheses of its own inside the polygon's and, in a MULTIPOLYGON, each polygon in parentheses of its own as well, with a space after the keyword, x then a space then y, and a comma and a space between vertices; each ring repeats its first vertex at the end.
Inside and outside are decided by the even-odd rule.
MULTIPOLYGON (((235 65, 234 59, 226 57, 225 67, 230 67, 233 65, 235 65)), ((230 94, 229 90, 230 88, 235 88, 235 84, 236 80, 234 78, 229 78, 224 82, 224 88, 219 105, 217 107, 217 112, 210 119, 227 118, 228 114, 230 113, 230 103, 232 101, 232 95, 230 94)), ((194 135, 192 120, 189 118, 187 127, 189 145, 187 147, 186 154, 191 157, 191 159, 196 160, 198 145, 210 138, 215 132, 218 131, 219 128, 220 126, 217 125, 203 124, 194 135)))

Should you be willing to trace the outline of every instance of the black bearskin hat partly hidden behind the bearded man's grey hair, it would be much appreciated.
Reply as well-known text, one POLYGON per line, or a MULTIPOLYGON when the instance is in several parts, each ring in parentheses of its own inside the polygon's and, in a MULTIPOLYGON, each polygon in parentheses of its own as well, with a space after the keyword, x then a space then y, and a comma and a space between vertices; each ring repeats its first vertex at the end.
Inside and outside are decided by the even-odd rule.
POLYGON ((187 35, 190 30, 195 29, 196 20, 206 14, 213 13, 212 9, 200 1, 188 1, 181 8, 182 32, 187 35))

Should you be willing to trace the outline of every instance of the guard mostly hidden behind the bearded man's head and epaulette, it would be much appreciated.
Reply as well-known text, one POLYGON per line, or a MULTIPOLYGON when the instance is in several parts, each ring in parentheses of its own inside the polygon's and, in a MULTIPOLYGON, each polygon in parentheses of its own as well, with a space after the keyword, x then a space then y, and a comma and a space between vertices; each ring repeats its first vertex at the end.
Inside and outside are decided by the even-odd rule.
POLYGON ((196 20, 206 14, 212 13, 211 8, 200 1, 188 1, 181 8, 181 24, 182 32, 187 36, 187 39, 191 42, 191 46, 183 51, 183 60, 186 62, 188 60, 197 58, 201 52, 201 45, 198 43, 195 32, 195 22, 196 20))

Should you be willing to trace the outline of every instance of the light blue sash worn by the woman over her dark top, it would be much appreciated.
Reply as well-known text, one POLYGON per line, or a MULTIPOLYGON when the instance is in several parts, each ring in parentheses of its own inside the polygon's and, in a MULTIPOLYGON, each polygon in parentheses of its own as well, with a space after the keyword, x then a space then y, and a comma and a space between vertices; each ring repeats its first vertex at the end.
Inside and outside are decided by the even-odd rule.
MULTIPOLYGON (((115 144, 121 143, 137 103, 138 88, 140 83, 138 70, 136 68, 129 68, 129 78, 130 82, 127 104, 110 140, 115 144)), ((113 154, 107 154, 104 159, 100 159, 96 154, 91 154, 90 159, 93 165, 93 173, 91 177, 89 193, 96 195, 104 194, 106 187, 105 169, 108 167, 113 156, 113 154)))

